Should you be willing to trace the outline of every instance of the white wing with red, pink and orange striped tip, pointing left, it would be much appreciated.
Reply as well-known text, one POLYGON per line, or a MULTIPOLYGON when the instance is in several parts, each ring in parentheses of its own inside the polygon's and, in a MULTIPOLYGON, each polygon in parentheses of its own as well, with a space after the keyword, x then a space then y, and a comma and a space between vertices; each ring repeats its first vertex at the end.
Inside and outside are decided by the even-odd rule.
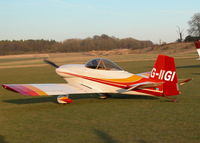
POLYGON ((87 93, 83 89, 68 84, 3 84, 2 87, 29 96, 87 93))

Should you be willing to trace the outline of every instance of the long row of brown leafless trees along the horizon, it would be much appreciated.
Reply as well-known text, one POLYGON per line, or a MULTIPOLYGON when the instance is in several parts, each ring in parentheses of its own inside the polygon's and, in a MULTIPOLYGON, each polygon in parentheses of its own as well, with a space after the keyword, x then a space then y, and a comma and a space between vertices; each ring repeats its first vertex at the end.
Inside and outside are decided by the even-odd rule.
POLYGON ((102 34, 85 39, 55 40, 2 40, 0 55, 52 53, 52 52, 87 52, 92 50, 140 49, 151 47, 151 41, 139 41, 133 38, 119 39, 102 34))

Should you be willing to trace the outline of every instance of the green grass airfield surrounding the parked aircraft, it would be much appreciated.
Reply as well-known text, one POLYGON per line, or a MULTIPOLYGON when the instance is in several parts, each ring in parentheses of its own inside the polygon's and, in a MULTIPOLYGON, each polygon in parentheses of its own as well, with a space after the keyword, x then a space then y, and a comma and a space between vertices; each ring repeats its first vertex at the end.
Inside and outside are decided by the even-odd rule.
MULTIPOLYGON (((199 143, 200 61, 176 60, 178 102, 137 96, 107 100, 76 98, 58 105, 56 97, 27 97, 0 89, 1 143, 199 143)), ((130 72, 150 71, 153 61, 119 63, 130 72)), ((64 82, 51 67, 1 69, 0 83, 64 82)))

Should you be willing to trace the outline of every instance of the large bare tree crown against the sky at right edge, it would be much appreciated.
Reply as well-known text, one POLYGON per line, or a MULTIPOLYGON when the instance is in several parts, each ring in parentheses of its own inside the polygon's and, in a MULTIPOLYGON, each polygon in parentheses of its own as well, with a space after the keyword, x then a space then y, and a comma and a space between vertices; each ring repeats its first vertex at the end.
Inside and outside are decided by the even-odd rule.
POLYGON ((195 13, 188 24, 190 25, 188 33, 191 36, 200 37, 200 13, 195 13))

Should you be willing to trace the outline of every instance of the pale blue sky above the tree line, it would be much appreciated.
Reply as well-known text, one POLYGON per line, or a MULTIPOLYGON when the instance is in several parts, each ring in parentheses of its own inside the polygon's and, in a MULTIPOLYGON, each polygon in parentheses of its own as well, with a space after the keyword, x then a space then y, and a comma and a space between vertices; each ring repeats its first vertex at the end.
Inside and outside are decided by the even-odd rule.
POLYGON ((0 0, 0 40, 118 38, 173 42, 200 0, 0 0))

